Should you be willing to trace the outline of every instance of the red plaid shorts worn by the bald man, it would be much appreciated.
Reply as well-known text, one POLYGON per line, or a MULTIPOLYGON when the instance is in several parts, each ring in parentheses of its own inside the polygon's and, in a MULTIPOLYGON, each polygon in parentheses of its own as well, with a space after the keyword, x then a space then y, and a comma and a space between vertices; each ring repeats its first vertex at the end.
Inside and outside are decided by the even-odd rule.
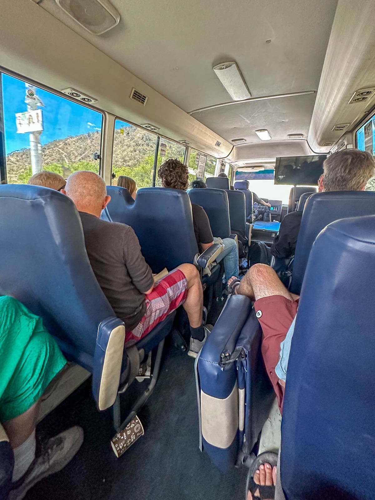
POLYGON ((143 338, 166 316, 186 300, 187 280, 179 269, 173 269, 144 296, 146 312, 132 331, 125 334, 125 347, 143 338))

